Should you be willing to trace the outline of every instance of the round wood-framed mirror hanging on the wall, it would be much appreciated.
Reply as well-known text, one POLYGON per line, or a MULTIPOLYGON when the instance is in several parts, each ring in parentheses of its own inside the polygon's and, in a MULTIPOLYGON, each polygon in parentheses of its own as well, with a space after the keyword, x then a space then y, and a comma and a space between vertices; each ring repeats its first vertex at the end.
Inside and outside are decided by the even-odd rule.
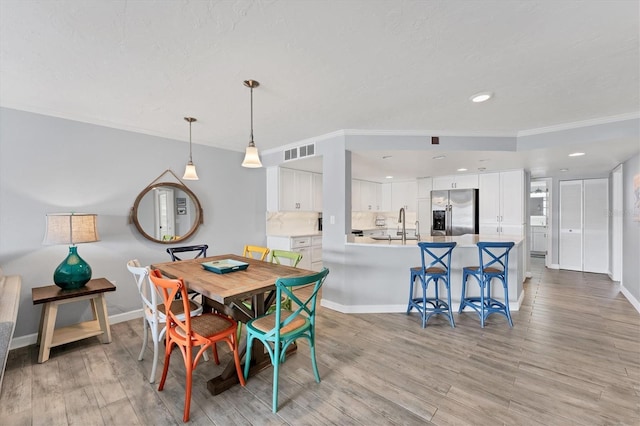
POLYGON ((198 197, 186 186, 160 182, 138 195, 131 219, 146 239, 174 244, 196 232, 202 222, 202 207, 198 197))

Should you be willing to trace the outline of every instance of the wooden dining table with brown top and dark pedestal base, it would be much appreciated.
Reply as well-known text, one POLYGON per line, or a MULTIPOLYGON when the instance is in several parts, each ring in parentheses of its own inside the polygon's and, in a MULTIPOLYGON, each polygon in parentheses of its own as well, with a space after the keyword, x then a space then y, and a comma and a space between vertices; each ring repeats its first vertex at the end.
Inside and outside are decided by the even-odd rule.
MULTIPOLYGON (((199 259, 176 262, 155 263, 152 269, 159 270, 169 278, 182 278, 189 290, 202 294, 205 311, 215 310, 230 315, 243 323, 260 317, 275 299, 275 283, 280 277, 299 277, 315 272, 276 263, 249 259, 234 254, 222 254, 199 259), (202 263, 231 259, 248 263, 245 270, 218 274, 202 267, 202 263), (250 303, 245 304, 247 301, 250 303)), ((295 352, 295 344, 290 345, 287 354, 295 352)), ((246 342, 240 342, 240 358, 246 353, 246 342)), ((271 359, 264 346, 255 340, 251 349, 249 376, 270 367, 271 359)), ((233 358, 222 374, 207 382, 207 389, 217 395, 238 383, 233 358)))

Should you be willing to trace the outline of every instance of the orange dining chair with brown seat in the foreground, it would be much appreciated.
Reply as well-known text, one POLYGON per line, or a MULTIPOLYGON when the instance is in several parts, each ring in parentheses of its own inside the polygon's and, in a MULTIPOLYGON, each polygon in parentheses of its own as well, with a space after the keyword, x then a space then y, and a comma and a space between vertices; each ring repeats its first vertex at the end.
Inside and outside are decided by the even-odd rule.
MULTIPOLYGON (((191 388, 193 379, 193 370, 195 370, 200 358, 210 347, 215 347, 217 342, 226 342, 231 351, 236 364, 236 373, 242 386, 245 385, 244 375, 240 367, 240 354, 238 351, 238 339, 236 337, 238 323, 233 319, 218 314, 206 313, 196 317, 185 316, 181 319, 172 312, 171 307, 176 300, 178 294, 182 295, 182 303, 184 311, 188 311, 189 298, 187 297, 187 287, 182 278, 167 279, 163 278, 158 270, 152 270, 149 277, 159 292, 162 294, 165 310, 167 312, 167 341, 165 344, 164 368, 162 369, 162 379, 158 390, 164 389, 167 380, 167 372, 169 371, 169 360, 171 351, 175 346, 180 349, 182 359, 184 361, 187 373, 187 382, 185 385, 184 397, 184 415, 182 420, 189 421, 189 409, 191 406, 191 388), (197 348, 197 346, 200 346, 197 348), (194 357, 194 348, 195 357, 194 357)), ((220 364, 217 351, 213 352, 216 364, 220 364)))

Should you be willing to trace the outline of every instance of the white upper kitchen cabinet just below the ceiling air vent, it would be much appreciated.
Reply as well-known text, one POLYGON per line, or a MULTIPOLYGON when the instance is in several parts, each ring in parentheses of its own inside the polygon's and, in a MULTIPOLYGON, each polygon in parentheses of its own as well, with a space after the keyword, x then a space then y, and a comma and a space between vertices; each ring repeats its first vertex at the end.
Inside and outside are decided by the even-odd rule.
POLYGON ((267 210, 268 211, 321 211, 322 187, 316 188, 318 181, 314 174, 284 167, 267 169, 267 210))

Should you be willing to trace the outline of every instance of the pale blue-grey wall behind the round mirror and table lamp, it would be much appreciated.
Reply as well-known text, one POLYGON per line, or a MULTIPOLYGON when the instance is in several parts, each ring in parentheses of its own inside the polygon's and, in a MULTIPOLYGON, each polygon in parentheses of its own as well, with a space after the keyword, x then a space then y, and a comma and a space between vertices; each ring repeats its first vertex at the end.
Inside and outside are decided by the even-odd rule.
MULTIPOLYGON (((16 337, 37 332, 41 306, 33 306, 31 288, 52 284, 53 271, 68 252, 66 246, 42 245, 49 212, 98 214, 101 241, 82 244, 78 252, 94 277, 116 282, 116 292, 107 295, 109 315, 140 309, 127 260, 170 259, 168 245, 137 233, 129 211, 164 170, 182 176, 188 149, 184 141, 0 109, 0 265, 23 279, 16 337)), ((242 253, 247 243, 266 243, 265 171, 242 168, 242 155, 193 146, 200 180, 185 183, 200 199, 204 224, 180 245, 207 243, 209 253, 225 254, 242 253)), ((88 304, 66 305, 59 324, 89 313, 88 304)))

